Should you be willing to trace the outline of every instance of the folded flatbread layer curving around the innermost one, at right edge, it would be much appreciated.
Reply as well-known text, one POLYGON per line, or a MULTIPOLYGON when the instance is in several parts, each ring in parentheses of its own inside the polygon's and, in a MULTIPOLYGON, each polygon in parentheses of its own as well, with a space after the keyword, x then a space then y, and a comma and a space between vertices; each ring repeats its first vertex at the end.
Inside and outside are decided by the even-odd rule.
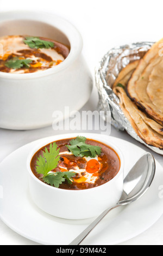
POLYGON ((149 98, 147 86, 152 70, 158 68, 162 62, 162 57, 159 55, 159 45, 162 42, 163 39, 155 43, 145 56, 143 56, 127 84, 128 96, 137 106, 142 108, 160 124, 163 124, 163 112, 158 108, 158 105, 154 105, 149 98))

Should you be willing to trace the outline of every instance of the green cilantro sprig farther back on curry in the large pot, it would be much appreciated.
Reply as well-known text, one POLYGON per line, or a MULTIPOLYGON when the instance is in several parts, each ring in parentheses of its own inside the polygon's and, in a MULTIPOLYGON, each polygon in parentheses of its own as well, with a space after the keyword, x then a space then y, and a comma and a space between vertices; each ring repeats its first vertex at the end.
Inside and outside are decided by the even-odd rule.
POLYGON ((25 44, 27 44, 30 48, 36 48, 36 49, 49 49, 54 47, 54 43, 51 41, 41 40, 39 37, 26 37, 25 40, 23 40, 25 44))

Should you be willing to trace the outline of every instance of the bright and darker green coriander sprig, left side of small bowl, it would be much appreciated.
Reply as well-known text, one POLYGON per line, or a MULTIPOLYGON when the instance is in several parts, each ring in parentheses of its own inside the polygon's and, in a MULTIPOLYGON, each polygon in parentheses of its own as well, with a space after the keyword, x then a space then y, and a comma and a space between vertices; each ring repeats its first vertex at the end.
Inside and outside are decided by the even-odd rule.
POLYGON ((40 155, 36 161, 36 171, 38 174, 42 174, 42 180, 45 183, 50 184, 56 188, 67 180, 69 184, 72 184, 72 176, 76 174, 74 171, 64 171, 64 172, 51 172, 58 165, 60 156, 59 149, 57 150, 57 144, 53 142, 49 145, 49 151, 45 147, 45 152, 43 152, 43 157, 40 155))

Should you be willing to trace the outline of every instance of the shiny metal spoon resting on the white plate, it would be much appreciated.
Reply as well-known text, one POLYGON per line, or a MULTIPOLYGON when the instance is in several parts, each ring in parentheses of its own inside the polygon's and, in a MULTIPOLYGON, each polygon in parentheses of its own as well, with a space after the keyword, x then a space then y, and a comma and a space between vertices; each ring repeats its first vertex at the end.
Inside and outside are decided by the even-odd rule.
POLYGON ((147 191, 155 175, 155 160, 151 153, 145 153, 124 178, 123 192, 118 203, 106 209, 70 245, 80 245, 93 228, 112 210, 121 205, 131 204, 147 191))

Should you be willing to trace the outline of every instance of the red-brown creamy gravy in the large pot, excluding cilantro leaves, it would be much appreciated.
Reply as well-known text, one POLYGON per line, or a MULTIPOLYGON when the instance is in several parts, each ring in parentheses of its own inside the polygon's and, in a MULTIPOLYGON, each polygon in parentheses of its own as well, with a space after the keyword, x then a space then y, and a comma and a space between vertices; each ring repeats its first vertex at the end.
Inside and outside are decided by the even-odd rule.
POLYGON ((63 62, 70 53, 70 47, 58 41, 39 37, 41 40, 54 43, 50 49, 33 49, 24 43, 23 35, 8 35, 0 37, 0 43, 3 45, 3 55, 0 56, 0 72, 5 73, 34 73, 49 68, 53 68, 63 62), (5 64, 11 59, 32 59, 30 67, 12 69, 5 64))

